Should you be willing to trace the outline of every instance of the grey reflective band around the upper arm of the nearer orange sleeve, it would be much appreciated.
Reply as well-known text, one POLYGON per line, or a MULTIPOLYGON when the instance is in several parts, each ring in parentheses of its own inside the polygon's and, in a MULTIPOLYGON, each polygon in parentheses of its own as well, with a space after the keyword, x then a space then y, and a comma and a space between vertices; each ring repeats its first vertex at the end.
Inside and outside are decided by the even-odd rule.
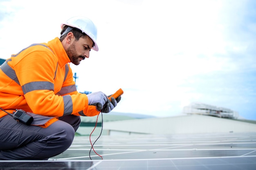
POLYGON ((30 82, 21 86, 24 95, 35 90, 54 91, 54 84, 51 82, 30 82))

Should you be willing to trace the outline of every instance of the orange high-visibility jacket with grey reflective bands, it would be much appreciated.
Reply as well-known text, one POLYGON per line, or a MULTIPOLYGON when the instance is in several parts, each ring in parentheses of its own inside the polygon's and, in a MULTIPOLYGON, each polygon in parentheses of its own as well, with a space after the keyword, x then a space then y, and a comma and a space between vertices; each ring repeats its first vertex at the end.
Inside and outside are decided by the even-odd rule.
MULTIPOLYGON (((11 55, 0 66, 0 108, 44 115, 95 116, 95 106, 88 97, 76 91, 73 73, 60 40, 32 44, 11 55)), ((0 117, 7 115, 0 111, 0 117)))

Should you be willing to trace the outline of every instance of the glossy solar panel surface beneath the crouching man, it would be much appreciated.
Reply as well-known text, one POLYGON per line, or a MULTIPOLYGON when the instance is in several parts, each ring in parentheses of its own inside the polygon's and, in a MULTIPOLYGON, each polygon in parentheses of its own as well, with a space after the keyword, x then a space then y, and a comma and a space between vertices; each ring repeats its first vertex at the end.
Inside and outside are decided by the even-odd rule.
MULTIPOLYGON (((97 138, 91 137, 92 144, 97 138)), ((89 136, 76 136, 69 149, 47 161, 0 161, 0 169, 255 170, 256 167, 256 132, 103 135, 93 148, 102 159, 91 150, 89 136)))

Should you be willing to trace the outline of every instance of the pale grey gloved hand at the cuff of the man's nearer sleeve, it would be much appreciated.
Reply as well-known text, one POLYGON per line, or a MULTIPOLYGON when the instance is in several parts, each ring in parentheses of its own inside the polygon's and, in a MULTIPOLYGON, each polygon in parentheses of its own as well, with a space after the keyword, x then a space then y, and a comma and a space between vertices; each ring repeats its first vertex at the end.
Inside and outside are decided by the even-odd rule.
POLYGON ((90 93, 87 95, 88 97, 88 105, 96 106, 98 111, 101 111, 102 107, 108 101, 108 97, 106 94, 99 92, 90 93))

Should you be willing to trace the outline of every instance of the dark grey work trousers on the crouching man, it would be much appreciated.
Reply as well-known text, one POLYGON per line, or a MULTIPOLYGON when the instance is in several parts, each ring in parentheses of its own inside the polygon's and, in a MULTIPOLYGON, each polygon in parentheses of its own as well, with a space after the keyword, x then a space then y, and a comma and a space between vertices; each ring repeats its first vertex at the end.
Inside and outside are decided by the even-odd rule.
POLYGON ((80 117, 60 117, 47 128, 18 123, 11 116, 0 118, 0 160, 47 160, 70 147, 80 117))

